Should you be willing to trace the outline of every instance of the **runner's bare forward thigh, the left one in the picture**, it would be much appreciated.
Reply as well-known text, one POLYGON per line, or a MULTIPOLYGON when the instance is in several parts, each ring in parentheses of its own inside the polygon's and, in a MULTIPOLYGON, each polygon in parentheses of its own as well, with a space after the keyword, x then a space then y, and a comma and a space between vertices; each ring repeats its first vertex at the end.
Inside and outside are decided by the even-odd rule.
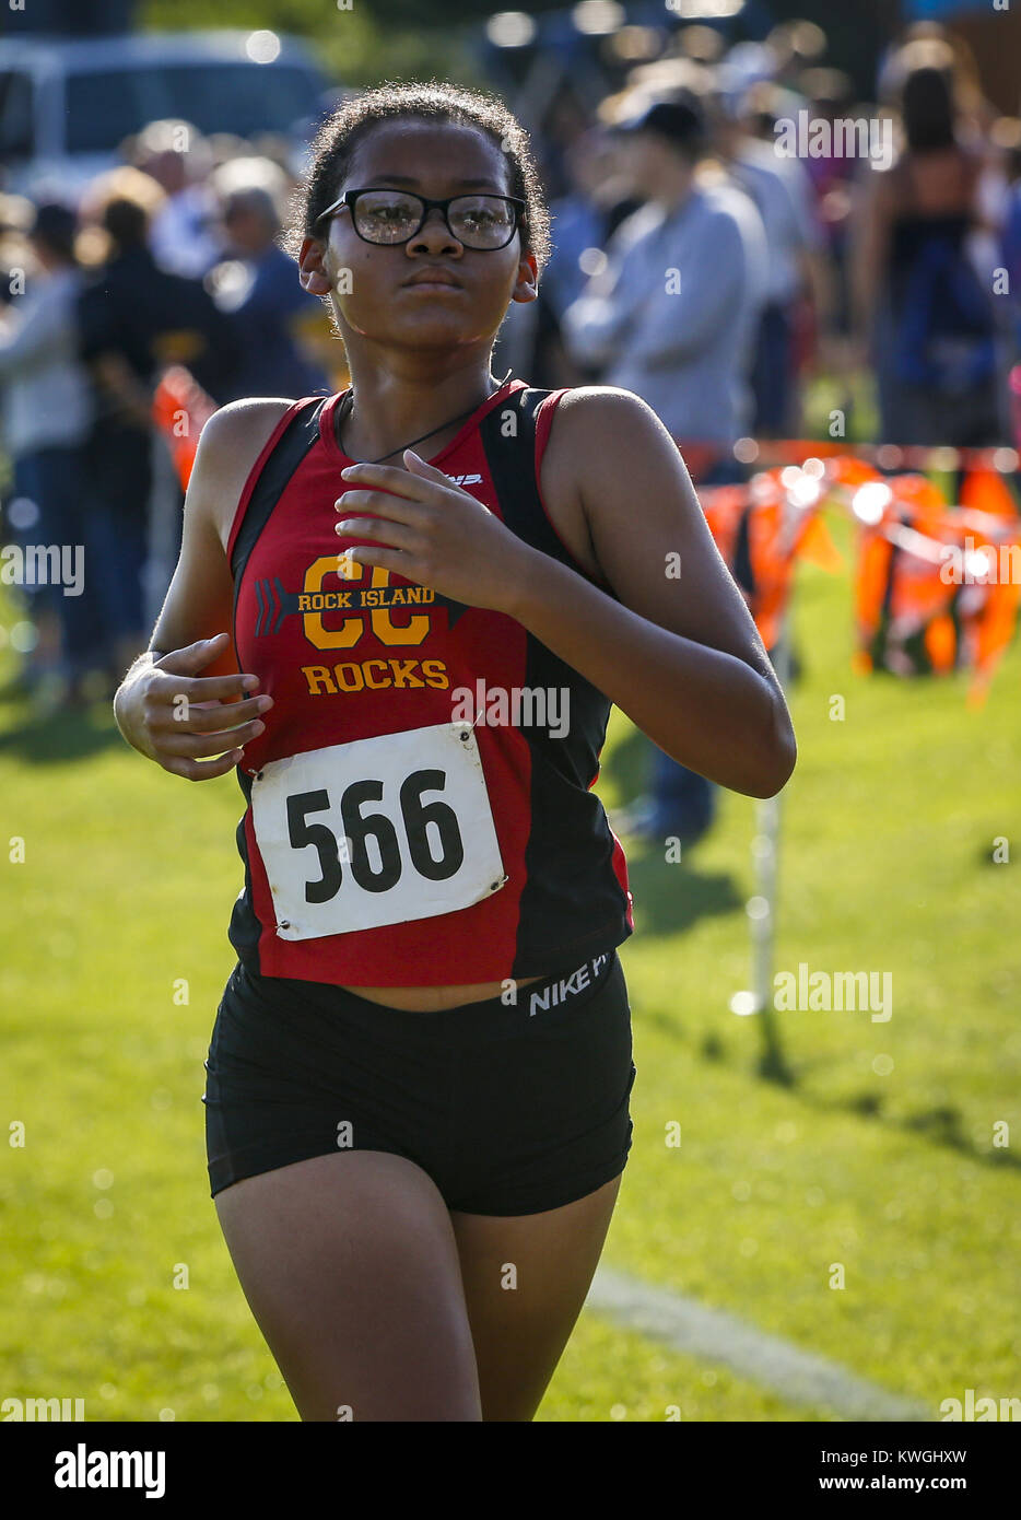
POLYGON ((214 1202, 302 1420, 482 1420, 457 1245, 421 1167, 318 1155, 214 1202))

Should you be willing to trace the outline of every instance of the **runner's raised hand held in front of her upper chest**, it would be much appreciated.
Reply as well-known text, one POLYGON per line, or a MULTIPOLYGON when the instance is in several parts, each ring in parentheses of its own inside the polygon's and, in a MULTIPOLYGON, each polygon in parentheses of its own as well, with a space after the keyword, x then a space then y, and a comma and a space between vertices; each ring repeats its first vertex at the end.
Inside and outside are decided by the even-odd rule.
POLYGON ((354 464, 342 471, 352 488, 334 503, 336 530, 340 538, 377 543, 337 553, 383 565, 466 606, 509 611, 538 550, 410 448, 404 461, 407 470, 354 464), (356 509, 375 515, 357 517, 356 509))

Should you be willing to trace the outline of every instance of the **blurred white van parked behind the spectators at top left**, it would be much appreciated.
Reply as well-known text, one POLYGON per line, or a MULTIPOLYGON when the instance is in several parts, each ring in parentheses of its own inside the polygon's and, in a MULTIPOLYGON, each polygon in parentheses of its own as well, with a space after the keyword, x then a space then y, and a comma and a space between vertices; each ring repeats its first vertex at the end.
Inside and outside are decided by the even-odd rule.
POLYGON ((301 41, 267 30, 5 38, 0 188, 76 198, 126 137, 164 117, 298 144, 328 90, 301 41))

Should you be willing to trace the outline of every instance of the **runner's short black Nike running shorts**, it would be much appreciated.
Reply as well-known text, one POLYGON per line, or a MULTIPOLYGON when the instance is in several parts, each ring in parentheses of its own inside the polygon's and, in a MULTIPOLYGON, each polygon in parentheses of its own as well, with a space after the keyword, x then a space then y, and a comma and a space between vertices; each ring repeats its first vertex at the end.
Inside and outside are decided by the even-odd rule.
POLYGON ((213 1028, 210 1196, 245 1176, 389 1151, 448 1208, 532 1214, 618 1176, 631 1149, 631 1008, 615 950, 500 996, 407 1012, 235 965, 213 1028))

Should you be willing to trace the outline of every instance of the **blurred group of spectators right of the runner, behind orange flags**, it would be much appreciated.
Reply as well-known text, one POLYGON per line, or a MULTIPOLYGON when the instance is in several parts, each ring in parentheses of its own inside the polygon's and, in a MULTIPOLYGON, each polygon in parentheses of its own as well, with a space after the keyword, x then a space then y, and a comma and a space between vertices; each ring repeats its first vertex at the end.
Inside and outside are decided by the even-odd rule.
MULTIPOLYGON (((1021 444, 1021 122, 937 23, 874 100, 825 55, 808 21, 729 49, 688 26, 591 120, 561 100, 555 252, 497 371, 637 392, 703 486, 746 480, 758 439, 1021 444)), ((716 787, 649 748, 614 827, 694 844, 716 787)))

